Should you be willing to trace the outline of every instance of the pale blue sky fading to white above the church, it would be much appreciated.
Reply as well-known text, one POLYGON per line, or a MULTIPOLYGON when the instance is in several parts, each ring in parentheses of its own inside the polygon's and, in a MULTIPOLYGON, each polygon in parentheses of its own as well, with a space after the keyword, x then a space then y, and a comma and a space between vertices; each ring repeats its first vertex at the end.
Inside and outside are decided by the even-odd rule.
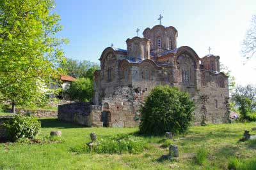
POLYGON ((199 57, 209 53, 220 56, 239 85, 256 85, 256 57, 245 60, 241 43, 256 15, 255 0, 56 0, 56 13, 61 17, 68 38, 63 46, 68 58, 99 62, 101 53, 111 43, 126 49, 126 39, 139 36, 147 27, 159 24, 178 31, 177 46, 190 46, 199 57))

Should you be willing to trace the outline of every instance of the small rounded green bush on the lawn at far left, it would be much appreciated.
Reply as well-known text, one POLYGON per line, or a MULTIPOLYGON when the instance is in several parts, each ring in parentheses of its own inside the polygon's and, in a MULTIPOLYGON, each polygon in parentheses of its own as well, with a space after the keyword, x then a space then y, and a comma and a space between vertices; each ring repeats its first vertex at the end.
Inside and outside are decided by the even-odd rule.
POLYGON ((19 138, 33 139, 40 131, 41 124, 35 117, 15 115, 3 124, 11 141, 19 138))

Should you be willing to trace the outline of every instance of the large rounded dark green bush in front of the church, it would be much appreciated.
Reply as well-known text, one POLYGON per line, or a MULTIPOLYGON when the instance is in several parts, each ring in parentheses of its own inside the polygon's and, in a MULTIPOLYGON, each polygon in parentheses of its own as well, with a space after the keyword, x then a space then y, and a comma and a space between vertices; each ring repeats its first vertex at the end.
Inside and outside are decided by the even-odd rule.
POLYGON ((176 87, 157 86, 141 108, 140 132, 150 135, 186 132, 194 109, 187 93, 179 92, 176 87))

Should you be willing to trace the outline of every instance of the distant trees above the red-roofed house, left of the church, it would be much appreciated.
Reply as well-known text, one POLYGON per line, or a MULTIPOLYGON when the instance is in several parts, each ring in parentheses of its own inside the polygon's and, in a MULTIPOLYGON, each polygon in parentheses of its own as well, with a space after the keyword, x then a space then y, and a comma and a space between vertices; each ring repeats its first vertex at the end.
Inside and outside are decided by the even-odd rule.
POLYGON ((98 64, 90 62, 88 60, 66 60, 67 62, 61 63, 60 67, 66 74, 75 78, 90 78, 90 80, 93 80, 94 71, 99 69, 98 64))

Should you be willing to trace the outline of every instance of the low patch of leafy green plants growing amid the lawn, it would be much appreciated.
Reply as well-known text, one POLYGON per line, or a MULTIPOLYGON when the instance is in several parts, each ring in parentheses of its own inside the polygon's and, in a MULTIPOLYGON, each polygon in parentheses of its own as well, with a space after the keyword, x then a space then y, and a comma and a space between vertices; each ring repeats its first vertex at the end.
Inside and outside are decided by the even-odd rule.
POLYGON ((113 138, 104 138, 97 141, 92 150, 88 145, 76 146, 71 148, 72 152, 76 153, 141 153, 147 148, 147 143, 140 138, 132 136, 117 136, 113 138))

